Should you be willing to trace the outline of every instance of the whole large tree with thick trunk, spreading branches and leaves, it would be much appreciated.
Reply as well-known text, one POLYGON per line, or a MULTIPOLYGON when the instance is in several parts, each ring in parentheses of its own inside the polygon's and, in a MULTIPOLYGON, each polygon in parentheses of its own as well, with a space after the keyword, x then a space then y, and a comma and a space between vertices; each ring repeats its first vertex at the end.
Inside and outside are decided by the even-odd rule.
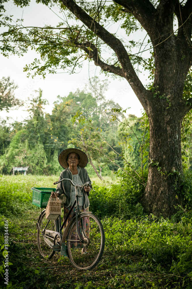
MULTIPOLYGON (((76 65, 81 66, 81 58, 89 58, 102 71, 125 78, 149 118, 149 176, 142 204, 156 215, 173 214, 178 203, 177 180, 183 172, 181 125, 192 103, 191 96, 183 97, 192 61, 192 1, 114 0, 109 5, 105 1, 43 0, 42 3, 57 3, 69 20, 54 29, 28 27, 26 34, 21 32, 22 23, 15 27, 9 23, 9 31, 2 35, 4 55, 11 51, 11 43, 15 41, 22 47, 21 53, 29 45, 41 53, 43 64, 34 60, 26 66, 26 71, 32 68, 34 74, 45 75, 46 70, 53 73, 58 67, 74 72, 76 65), (136 20, 147 32, 153 50, 154 83, 150 89, 145 88, 134 68, 136 60, 143 61, 140 54, 130 52, 136 43, 121 40, 110 29, 111 23, 121 21, 121 27, 129 35, 138 29, 136 20), (178 24, 175 30, 174 23, 178 24), (104 59, 106 47, 110 52, 108 59, 104 59)), ((14 51, 18 53, 15 47, 11 52, 14 51)))

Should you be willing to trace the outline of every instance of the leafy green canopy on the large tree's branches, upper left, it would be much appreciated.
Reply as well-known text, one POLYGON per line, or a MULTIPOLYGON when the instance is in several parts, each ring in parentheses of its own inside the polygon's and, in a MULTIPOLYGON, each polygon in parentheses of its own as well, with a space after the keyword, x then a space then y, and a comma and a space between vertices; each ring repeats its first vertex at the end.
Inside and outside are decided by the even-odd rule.
MULTIPOLYGON (((120 66, 114 51, 110 47, 104 47, 104 41, 98 41, 98 36, 87 29, 85 25, 81 25, 77 17, 74 17, 73 13, 67 10, 62 2, 42 1, 42 3, 47 6, 57 4, 67 14, 69 19, 61 21, 56 27, 49 25, 45 25, 45 27, 41 27, 40 29, 39 27, 28 27, 25 33, 20 19, 17 19, 13 24, 11 21, 12 17, 7 17, 2 23, 4 24, 2 26, 7 28, 6 32, 1 34, 3 42, 1 50, 3 55, 8 56, 9 53, 23 55, 28 51, 29 47, 32 47, 41 55, 43 64, 36 58, 31 64, 27 64, 24 70, 33 70, 33 75, 38 74, 43 75, 43 77, 45 77, 47 71, 49 73, 56 73, 58 67, 74 73, 76 67, 82 67, 82 60, 91 58, 89 54, 92 54, 92 49, 95 47, 98 47, 100 52, 104 53, 107 51, 107 57, 105 57, 106 63, 109 65, 115 63, 114 67, 120 66), (75 18, 74 24, 70 21, 73 18, 75 18), (79 24, 81 25, 81 29, 79 29, 79 24), (88 42, 85 48, 82 49, 81 40, 84 39, 88 39, 88 42), (15 46, 12 45, 12 42, 15 42, 15 46), (90 43, 94 44, 94 46, 92 47, 90 43)), ((22 5, 22 3, 18 1, 17 5, 22 5)), ((29 5, 29 1, 25 1, 24 5, 29 5)), ((117 3, 106 5, 102 1, 98 4, 94 2, 81 2, 81 7, 101 25, 105 26, 107 23, 111 23, 111 21, 115 23, 120 21, 120 27, 125 30, 126 35, 131 35, 140 28, 140 24, 138 24, 134 16, 131 13, 124 13, 122 6, 117 3), (96 13, 97 10, 98 13, 96 13)), ((124 42, 129 52, 131 52, 130 47, 139 45, 139 42, 134 40, 124 40, 124 42)), ((102 57, 104 58, 104 55, 102 57)), ((130 59, 135 64, 143 62, 144 58, 142 59, 133 55, 130 59)), ((31 75, 31 72, 28 72, 28 75, 31 75)))

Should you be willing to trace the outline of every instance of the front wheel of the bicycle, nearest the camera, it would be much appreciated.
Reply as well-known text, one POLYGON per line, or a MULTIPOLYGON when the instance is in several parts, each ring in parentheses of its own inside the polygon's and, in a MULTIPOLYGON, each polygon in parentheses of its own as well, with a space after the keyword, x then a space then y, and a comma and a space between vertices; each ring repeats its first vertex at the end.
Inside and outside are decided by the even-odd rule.
POLYGON ((93 269, 101 259, 105 235, 100 220, 94 214, 84 213, 78 217, 80 241, 77 235, 76 221, 69 229, 66 239, 71 264, 81 270, 93 269))

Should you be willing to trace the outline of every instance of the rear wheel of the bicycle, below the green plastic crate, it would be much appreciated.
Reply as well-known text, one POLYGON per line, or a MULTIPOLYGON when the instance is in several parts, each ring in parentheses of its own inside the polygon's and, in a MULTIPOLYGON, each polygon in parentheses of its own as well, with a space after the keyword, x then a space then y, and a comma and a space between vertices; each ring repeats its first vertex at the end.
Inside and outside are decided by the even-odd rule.
MULTIPOLYGON (((58 231, 58 220, 57 221, 49 221, 45 218, 45 210, 42 212, 41 217, 39 218, 39 222, 37 223, 37 247, 39 249, 39 253, 42 257, 47 257, 50 259, 54 255, 54 251, 52 248, 45 242, 45 234, 44 229, 58 231), (48 225, 47 225, 48 223, 48 225)), ((54 245, 54 237, 46 236, 46 240, 50 243, 50 245, 54 245)))

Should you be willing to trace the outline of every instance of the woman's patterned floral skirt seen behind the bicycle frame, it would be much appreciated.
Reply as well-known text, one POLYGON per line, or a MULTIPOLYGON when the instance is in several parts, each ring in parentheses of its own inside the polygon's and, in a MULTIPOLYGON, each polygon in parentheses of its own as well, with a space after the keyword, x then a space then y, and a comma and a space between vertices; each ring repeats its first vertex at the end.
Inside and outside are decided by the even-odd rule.
MULTIPOLYGON (((63 220, 66 218, 67 214, 69 213, 70 209, 71 209, 72 206, 69 206, 67 208, 63 208, 64 210, 64 216, 63 216, 63 220)), ((74 214, 75 214, 75 207, 73 208, 73 211, 71 212, 71 215, 69 216, 67 222, 65 223, 64 225, 64 229, 66 228, 66 226, 69 224, 69 222, 71 221, 71 219, 73 218, 74 214)), ((83 209, 83 207, 81 207, 81 212, 88 212, 89 211, 89 208, 86 208, 86 209, 83 209)), ((81 235, 81 220, 78 221, 78 226, 79 226, 79 233, 80 233, 80 236, 82 237, 81 235)), ((83 228, 84 228, 84 231, 85 231, 85 234, 87 236, 87 238, 89 238, 89 233, 90 233, 90 229, 89 229, 89 217, 84 217, 83 218, 83 228)), ((71 240, 74 240, 74 242, 71 242, 71 248, 78 248, 79 246, 81 246, 83 248, 83 245, 79 244, 79 242, 77 240, 79 240, 79 236, 77 235, 77 229, 76 229, 76 225, 74 227, 74 230, 71 234, 71 240)))

